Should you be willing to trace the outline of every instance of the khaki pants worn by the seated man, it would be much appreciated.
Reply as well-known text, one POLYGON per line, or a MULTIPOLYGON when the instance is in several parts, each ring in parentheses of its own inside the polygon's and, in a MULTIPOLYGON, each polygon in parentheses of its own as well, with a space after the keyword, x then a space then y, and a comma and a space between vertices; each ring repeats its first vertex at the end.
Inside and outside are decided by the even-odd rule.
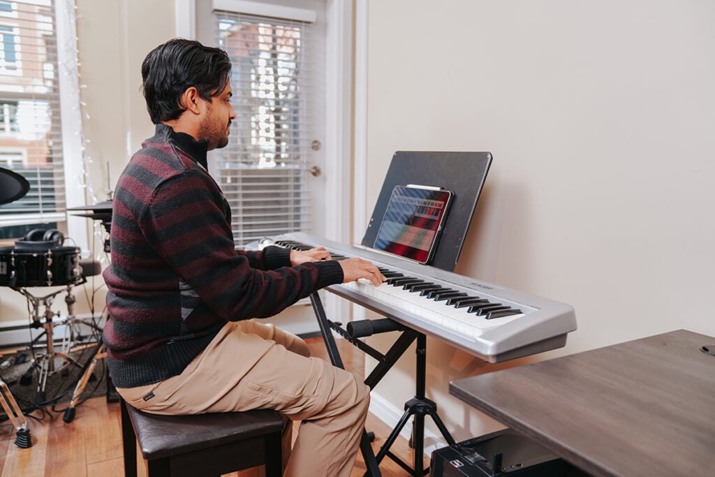
POLYGON ((370 388, 309 354, 303 340, 280 328, 255 320, 231 322, 180 375, 117 391, 135 408, 156 414, 275 409, 302 421, 287 477, 347 477, 370 388))

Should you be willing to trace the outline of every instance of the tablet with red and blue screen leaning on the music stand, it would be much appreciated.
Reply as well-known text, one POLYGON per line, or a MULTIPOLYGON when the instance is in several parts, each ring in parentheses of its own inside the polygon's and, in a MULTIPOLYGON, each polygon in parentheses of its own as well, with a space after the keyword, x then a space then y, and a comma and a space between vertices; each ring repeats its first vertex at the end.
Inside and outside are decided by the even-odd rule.
POLYGON ((453 195, 435 187, 395 186, 373 248, 428 263, 453 195))

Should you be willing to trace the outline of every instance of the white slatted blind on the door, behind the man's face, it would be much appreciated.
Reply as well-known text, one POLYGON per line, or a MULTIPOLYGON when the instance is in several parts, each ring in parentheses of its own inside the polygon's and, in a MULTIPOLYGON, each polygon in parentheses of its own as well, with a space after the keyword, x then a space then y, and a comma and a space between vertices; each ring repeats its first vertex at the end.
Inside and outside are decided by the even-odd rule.
POLYGON ((212 170, 232 210, 236 244, 305 231, 313 74, 310 24, 214 11, 215 38, 233 64, 236 119, 212 170))

